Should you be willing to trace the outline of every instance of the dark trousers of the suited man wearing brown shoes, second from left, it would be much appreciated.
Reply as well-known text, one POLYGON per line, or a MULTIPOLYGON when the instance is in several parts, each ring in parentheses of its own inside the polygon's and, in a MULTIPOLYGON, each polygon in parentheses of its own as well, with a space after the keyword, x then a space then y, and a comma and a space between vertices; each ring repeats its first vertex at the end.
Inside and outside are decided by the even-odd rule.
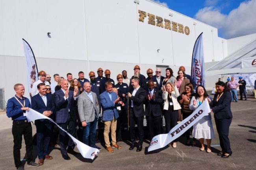
POLYGON ((38 159, 44 159, 48 155, 48 146, 52 133, 52 123, 46 122, 35 125, 37 127, 37 155, 38 159))

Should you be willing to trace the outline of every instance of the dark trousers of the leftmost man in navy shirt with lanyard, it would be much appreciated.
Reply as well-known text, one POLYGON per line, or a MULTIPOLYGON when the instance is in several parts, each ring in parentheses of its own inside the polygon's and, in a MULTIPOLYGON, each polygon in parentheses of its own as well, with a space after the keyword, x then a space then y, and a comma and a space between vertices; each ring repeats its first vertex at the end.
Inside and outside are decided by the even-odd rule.
POLYGON ((33 144, 32 144, 32 127, 30 122, 13 121, 13 157, 16 168, 22 166, 20 161, 20 148, 22 142, 22 135, 24 136, 26 144, 26 154, 28 155, 28 163, 33 159, 33 144))

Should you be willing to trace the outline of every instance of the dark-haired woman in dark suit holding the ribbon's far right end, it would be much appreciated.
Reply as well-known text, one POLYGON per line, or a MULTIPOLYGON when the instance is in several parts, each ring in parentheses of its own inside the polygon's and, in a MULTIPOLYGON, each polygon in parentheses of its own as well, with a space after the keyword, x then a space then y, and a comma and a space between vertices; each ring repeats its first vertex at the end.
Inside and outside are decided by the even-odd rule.
POLYGON ((231 94, 224 82, 219 81, 215 85, 217 93, 214 95, 211 111, 214 113, 215 124, 221 145, 221 152, 217 155, 226 158, 232 154, 230 141, 228 139, 229 126, 233 117, 230 109, 231 94))

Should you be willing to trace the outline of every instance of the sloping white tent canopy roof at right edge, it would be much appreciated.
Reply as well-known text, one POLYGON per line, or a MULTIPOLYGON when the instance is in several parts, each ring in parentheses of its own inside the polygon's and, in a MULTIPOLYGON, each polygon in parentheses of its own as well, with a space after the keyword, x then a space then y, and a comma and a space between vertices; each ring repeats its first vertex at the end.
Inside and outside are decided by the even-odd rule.
POLYGON ((256 57, 256 39, 206 70, 206 76, 232 73, 255 73, 256 67, 242 68, 242 59, 256 57))

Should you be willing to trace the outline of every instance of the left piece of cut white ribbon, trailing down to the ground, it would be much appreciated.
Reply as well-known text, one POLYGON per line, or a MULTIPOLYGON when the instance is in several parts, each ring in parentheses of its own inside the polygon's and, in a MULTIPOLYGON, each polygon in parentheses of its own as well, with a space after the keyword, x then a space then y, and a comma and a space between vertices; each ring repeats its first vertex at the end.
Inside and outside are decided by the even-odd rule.
POLYGON ((26 117, 28 119, 28 121, 35 121, 37 119, 48 119, 51 122, 53 122, 54 124, 56 124, 59 129, 63 130, 64 132, 66 132, 69 137, 74 141, 74 144, 76 145, 76 147, 78 148, 80 154, 84 157, 84 158, 88 158, 88 159, 94 159, 95 156, 100 152, 98 149, 96 148, 92 148, 90 146, 87 146, 86 144, 78 141, 76 138, 74 138, 72 135, 69 134, 69 132, 67 132, 66 130, 64 130, 63 128, 61 128, 56 122, 54 122, 52 119, 50 119, 49 117, 33 110, 33 109, 29 109, 29 111, 26 112, 26 117))

